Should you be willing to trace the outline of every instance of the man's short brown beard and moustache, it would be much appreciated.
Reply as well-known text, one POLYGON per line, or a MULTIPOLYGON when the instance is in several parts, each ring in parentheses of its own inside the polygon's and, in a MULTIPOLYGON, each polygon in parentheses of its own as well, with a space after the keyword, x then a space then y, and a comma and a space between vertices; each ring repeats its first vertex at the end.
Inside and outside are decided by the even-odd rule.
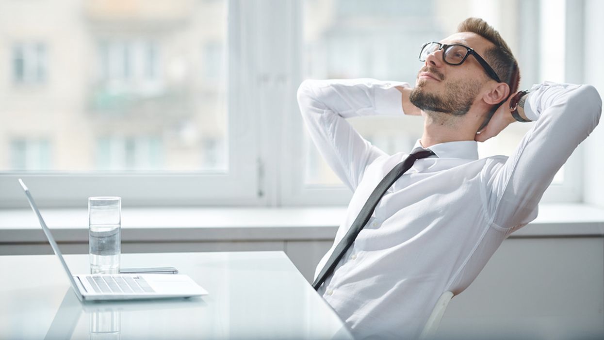
MULTIPOLYGON (((439 72, 433 72, 432 70, 430 72, 444 80, 439 72)), ((427 81, 424 80, 418 83, 411 91, 409 96, 411 103, 424 112, 442 112, 453 116, 467 114, 481 88, 481 83, 477 80, 460 80, 446 84, 445 94, 436 94, 428 92, 426 89, 427 81)))

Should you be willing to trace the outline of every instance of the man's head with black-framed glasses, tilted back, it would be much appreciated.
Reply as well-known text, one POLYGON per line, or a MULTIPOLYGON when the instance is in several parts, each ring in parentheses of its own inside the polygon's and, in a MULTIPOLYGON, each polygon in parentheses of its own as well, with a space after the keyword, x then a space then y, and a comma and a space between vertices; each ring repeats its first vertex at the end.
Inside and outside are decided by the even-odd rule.
POLYGON ((478 18, 467 18, 461 22, 457 33, 440 40, 440 44, 460 44, 471 50, 428 45, 420 56, 422 60, 425 58, 425 62, 411 92, 411 103, 428 115, 452 117, 466 115, 474 105, 480 111, 480 130, 500 103, 517 91, 520 80, 518 62, 500 34, 478 18), (447 56, 443 58, 445 51, 447 56), (467 56, 463 59, 465 54, 467 56), (460 65, 452 65, 462 59, 460 65), (496 75, 489 74, 489 69, 496 75))

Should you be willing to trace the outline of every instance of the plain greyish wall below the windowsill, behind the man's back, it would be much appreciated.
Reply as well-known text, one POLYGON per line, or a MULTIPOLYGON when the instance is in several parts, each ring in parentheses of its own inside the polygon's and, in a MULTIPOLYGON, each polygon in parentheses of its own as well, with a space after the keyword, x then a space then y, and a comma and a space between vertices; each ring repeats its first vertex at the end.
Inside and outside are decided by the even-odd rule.
POLYGON ((603 310, 602 237, 507 239, 477 279, 451 300, 438 335, 602 339, 603 310))

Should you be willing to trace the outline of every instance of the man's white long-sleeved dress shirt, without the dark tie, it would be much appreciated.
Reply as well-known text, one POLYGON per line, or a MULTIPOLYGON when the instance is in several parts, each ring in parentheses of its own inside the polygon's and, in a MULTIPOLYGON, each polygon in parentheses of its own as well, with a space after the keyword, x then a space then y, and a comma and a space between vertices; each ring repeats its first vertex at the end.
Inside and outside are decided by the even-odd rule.
MULTIPOLYGON (((345 120, 402 116, 397 85, 409 86, 306 80, 298 89, 310 137, 354 191, 315 277, 373 189, 408 156, 387 155, 345 120)), ((479 159, 474 140, 435 144, 429 149, 436 156, 417 160, 382 197, 318 290, 355 338, 417 338, 440 295, 463 292, 501 242, 537 217, 554 175, 596 127, 602 100, 590 85, 546 82, 533 86, 524 112, 537 122, 511 156, 479 159)), ((422 147, 420 140, 416 147, 422 147)))

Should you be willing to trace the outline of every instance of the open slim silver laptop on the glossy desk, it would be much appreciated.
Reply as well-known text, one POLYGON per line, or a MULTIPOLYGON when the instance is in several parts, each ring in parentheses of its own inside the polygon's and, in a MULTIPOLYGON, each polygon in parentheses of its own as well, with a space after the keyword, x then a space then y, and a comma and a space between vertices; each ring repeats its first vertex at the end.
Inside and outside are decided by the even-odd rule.
POLYGON ((69 283, 80 301, 92 300, 141 300, 156 298, 190 298, 207 295, 208 292, 182 274, 94 274, 72 275, 59 246, 31 196, 30 190, 19 179, 31 209, 36 213, 54 254, 59 257, 69 283))

